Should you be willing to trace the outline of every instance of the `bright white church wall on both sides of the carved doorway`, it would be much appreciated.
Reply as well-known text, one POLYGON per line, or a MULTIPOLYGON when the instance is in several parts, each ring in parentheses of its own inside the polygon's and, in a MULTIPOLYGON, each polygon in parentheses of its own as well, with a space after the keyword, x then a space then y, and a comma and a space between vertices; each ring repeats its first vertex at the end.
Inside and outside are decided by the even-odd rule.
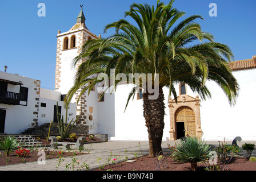
MULTIPOLYGON (((234 107, 229 105, 229 101, 223 90, 215 84, 208 81, 206 83, 212 98, 203 101, 201 98, 201 128, 203 139, 205 140, 233 140, 235 137, 242 137, 243 140, 256 140, 256 120, 254 117, 256 97, 252 93, 256 90, 256 69, 233 72, 241 88, 234 107)), ((130 101, 127 109, 125 105, 131 85, 119 85, 115 92, 115 132, 110 135, 111 140, 147 140, 147 128, 143 117, 143 101, 130 101)), ((177 94, 179 85, 175 85, 177 94)), ((163 88, 165 94, 165 129, 163 130, 163 140, 169 138, 170 117, 167 103, 168 88, 163 88)), ((187 86, 187 93, 195 97, 187 86)))

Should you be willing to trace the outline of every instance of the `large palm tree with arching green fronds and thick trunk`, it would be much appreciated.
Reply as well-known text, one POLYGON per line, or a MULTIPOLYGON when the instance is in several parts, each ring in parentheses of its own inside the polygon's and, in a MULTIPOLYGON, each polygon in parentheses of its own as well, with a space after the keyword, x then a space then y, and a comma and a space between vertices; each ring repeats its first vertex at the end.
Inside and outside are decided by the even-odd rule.
MULTIPOLYGON (((105 32, 109 28, 115 28, 114 35, 86 42, 73 63, 76 65, 81 59, 86 61, 79 65, 75 84, 65 100, 69 103, 81 88, 81 95, 86 90, 90 94, 93 86, 102 81, 97 79, 99 73, 105 73, 109 77, 113 69, 115 76, 118 73, 127 77, 129 73, 145 73, 146 77, 141 81, 129 82, 134 84, 134 88, 127 104, 138 88, 143 87, 143 115, 149 133, 150 156, 162 151, 164 86, 169 88, 168 97, 173 94, 175 100, 177 93, 174 85, 179 82, 189 85, 203 100, 211 97, 205 86, 206 80, 213 80, 221 86, 230 105, 235 104, 238 94, 237 81, 229 68, 229 61, 234 57, 230 48, 214 42, 213 35, 201 30, 200 24, 194 22, 195 19, 203 19, 200 15, 189 16, 178 22, 185 13, 175 9, 173 3, 174 0, 171 0, 164 5, 158 1, 156 7, 133 3, 125 15, 135 20, 136 25, 120 19, 105 27, 105 32), (159 79, 148 78, 150 74, 158 75, 159 79), (149 92, 147 85, 143 86, 143 81, 158 89, 158 98, 151 99, 154 93, 149 92), (89 82, 93 84, 86 86, 89 82)), ((127 83, 126 80, 122 82, 127 83)), ((120 83, 119 80, 113 82, 114 90, 120 83)))

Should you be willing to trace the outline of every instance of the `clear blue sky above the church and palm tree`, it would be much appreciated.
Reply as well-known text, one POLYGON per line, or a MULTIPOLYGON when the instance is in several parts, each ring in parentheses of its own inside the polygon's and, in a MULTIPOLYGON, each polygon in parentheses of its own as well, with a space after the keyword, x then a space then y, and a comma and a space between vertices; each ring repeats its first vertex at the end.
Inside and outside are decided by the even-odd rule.
MULTIPOLYGON (((0 71, 7 65, 7 72, 41 80, 43 88, 54 89, 57 32, 66 32, 75 24, 79 5, 83 5, 87 28, 106 38, 113 31, 103 34, 103 28, 124 18, 132 3, 156 5, 157 0, 0 1, 0 71), (45 17, 37 14, 38 3, 45 3, 45 17)), ((235 60, 256 55, 255 0, 176 0, 174 7, 186 12, 181 19, 202 15, 204 20, 197 20, 202 30, 230 46, 235 60), (217 5, 216 17, 209 16, 210 3, 217 5)))

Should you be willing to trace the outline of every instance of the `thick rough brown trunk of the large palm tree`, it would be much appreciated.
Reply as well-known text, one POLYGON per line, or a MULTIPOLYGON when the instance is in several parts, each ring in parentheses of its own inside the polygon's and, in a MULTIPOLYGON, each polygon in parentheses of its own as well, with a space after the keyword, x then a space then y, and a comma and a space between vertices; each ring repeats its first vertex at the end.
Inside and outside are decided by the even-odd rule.
POLYGON ((149 100, 149 95, 148 92, 143 94, 143 115, 146 121, 147 132, 149 133, 149 156, 154 157, 162 151, 165 103, 163 102, 162 88, 159 88, 159 96, 156 100, 149 100))

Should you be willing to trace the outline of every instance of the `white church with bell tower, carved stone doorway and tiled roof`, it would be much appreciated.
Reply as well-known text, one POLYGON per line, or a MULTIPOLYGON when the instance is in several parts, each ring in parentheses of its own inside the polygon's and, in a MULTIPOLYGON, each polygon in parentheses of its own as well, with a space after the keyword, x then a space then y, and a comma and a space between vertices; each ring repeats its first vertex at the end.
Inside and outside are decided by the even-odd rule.
MULTIPOLYGON (((99 38, 101 35, 93 34, 85 26, 85 15, 82 10, 77 17, 77 22, 70 30, 58 31, 55 91, 51 90, 53 93, 58 93, 62 97, 67 94, 74 84, 77 69, 72 68, 72 60, 79 55, 82 45, 87 40, 99 38)), ((229 105, 224 92, 215 82, 206 82, 212 96, 206 101, 193 93, 189 86, 179 84, 176 85, 179 92, 176 103, 173 99, 167 99, 169 90, 164 88, 166 115, 163 140, 175 140, 188 135, 205 140, 223 140, 223 138, 233 140, 238 136, 242 140, 256 140, 256 120, 253 115, 256 97, 252 94, 256 91, 256 56, 251 59, 233 61, 230 67, 241 89, 237 104, 233 107, 229 105)), ((19 82, 14 84, 19 85, 19 82)), ((76 115, 81 115, 77 125, 89 126, 89 134, 107 134, 110 140, 147 140, 141 94, 138 93, 137 98, 129 102, 125 111, 131 86, 119 85, 114 94, 106 93, 101 100, 99 100, 100 93, 98 93, 97 86, 90 92, 90 95, 83 94, 76 106, 76 115)), ((45 92, 51 91, 45 90, 45 92)), ((74 105, 80 92, 81 90, 78 90, 72 100, 74 105)), ((43 96, 38 96, 38 98, 43 100, 43 96)), ((0 104, 0 108, 4 107, 3 105, 0 104)), ((11 121, 6 123, 7 126, 9 122, 11 121)), ((50 118, 43 122, 50 122, 50 118)))

